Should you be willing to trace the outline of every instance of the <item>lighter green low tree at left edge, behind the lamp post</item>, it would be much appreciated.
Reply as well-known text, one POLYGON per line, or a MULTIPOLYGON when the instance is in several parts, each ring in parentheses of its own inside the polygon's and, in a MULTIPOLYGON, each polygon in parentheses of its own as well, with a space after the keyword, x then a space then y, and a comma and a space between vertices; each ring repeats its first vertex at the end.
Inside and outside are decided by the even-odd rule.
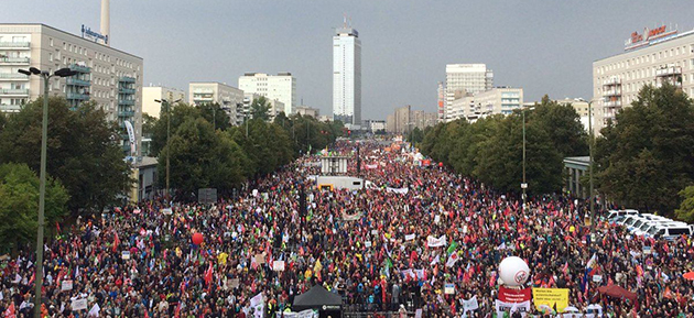
MULTIPOLYGON (((26 164, 0 165, 0 248, 36 238, 39 177, 26 164)), ((69 196, 59 182, 46 178, 44 216, 47 224, 59 220, 69 196)))

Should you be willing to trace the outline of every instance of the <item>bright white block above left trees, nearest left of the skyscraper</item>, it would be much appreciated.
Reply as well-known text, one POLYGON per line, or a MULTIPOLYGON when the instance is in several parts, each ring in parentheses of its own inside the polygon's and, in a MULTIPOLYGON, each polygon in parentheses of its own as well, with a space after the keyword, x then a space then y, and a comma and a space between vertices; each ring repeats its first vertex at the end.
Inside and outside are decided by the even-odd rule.
POLYGON ((294 113, 296 107, 296 79, 291 73, 268 75, 246 73, 239 77, 239 89, 243 92, 264 96, 268 100, 279 100, 284 105, 286 116, 294 113))

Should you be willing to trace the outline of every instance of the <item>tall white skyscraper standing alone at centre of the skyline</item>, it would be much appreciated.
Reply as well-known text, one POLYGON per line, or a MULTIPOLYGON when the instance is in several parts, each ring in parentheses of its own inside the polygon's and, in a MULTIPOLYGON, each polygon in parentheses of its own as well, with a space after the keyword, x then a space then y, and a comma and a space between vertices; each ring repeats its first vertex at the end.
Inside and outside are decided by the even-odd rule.
POLYGON ((347 25, 333 36, 333 119, 361 124, 361 41, 347 25))

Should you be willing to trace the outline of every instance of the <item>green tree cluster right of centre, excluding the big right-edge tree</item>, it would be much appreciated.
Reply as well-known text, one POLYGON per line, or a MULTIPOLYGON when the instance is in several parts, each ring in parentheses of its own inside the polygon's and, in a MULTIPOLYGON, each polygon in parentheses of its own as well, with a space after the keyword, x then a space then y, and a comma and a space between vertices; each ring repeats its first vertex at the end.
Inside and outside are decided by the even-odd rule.
MULTIPOLYGON (((586 133, 571 106, 544 98, 527 110, 525 178, 531 194, 561 189, 562 158, 587 151, 586 133), (557 128, 557 123, 563 127, 557 128)), ((429 130, 422 153, 459 174, 476 177, 498 189, 520 191, 523 177, 522 113, 491 116, 469 123, 456 120, 429 130)))

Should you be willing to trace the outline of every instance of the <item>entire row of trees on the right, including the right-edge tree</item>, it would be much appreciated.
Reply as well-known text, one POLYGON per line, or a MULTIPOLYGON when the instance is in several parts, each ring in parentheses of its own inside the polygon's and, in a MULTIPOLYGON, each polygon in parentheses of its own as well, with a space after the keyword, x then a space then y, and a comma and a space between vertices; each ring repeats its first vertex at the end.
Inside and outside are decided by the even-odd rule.
MULTIPOLYGON (((520 193, 523 111, 528 191, 559 193, 568 177, 562 160, 587 156, 589 138, 573 107, 546 96, 507 117, 440 123, 419 145, 463 175, 520 193)), ((694 221, 694 102, 680 88, 644 86, 594 145, 595 188, 603 201, 694 221)), ((586 188, 587 183, 582 180, 586 188)))

